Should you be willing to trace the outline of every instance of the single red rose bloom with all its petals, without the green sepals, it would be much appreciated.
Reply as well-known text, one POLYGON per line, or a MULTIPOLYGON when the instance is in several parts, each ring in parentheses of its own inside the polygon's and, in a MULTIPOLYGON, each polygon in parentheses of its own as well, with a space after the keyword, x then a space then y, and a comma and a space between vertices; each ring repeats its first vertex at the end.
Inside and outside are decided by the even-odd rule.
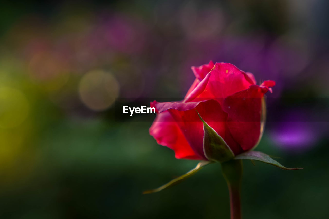
POLYGON ((150 134, 174 150, 178 159, 207 160, 203 123, 198 113, 223 138, 235 155, 253 149, 264 130, 264 94, 275 85, 256 85, 253 74, 230 63, 192 67, 196 77, 181 102, 152 102, 158 114, 150 134))

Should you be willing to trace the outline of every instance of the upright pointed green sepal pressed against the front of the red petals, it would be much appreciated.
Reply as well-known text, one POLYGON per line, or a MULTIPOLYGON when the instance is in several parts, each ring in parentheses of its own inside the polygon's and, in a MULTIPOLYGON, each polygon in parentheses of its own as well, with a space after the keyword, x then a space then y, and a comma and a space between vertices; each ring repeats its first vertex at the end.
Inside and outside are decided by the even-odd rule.
POLYGON ((206 158, 221 163, 233 159, 234 153, 224 139, 198 115, 203 123, 203 152, 206 158))

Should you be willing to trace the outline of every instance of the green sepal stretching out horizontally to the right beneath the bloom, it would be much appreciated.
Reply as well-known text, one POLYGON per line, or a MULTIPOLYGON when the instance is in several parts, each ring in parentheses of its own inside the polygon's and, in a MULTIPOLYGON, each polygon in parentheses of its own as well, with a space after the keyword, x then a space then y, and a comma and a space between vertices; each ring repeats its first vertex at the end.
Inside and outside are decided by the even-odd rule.
POLYGON ((300 169, 304 169, 304 168, 288 168, 288 167, 284 167, 282 166, 279 162, 273 160, 272 158, 270 158, 270 156, 268 156, 267 154, 263 153, 263 152, 259 152, 259 151, 247 151, 244 153, 241 153, 239 155, 237 155, 234 159, 248 159, 248 160, 258 160, 258 161, 262 161, 264 163, 268 163, 271 164, 273 166, 279 167, 283 170, 300 170, 300 169))

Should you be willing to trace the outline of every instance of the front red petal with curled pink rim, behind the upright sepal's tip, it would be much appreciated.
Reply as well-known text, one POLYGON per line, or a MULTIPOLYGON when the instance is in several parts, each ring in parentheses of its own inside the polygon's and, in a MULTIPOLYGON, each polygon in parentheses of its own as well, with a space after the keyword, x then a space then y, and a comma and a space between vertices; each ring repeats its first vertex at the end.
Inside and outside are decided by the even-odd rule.
POLYGON ((190 103, 157 103, 153 102, 159 112, 168 111, 177 122, 179 128, 189 142, 193 151, 206 160, 203 153, 203 125, 197 115, 201 117, 225 140, 235 154, 242 150, 232 135, 227 132, 227 113, 224 112, 220 104, 215 100, 190 103))

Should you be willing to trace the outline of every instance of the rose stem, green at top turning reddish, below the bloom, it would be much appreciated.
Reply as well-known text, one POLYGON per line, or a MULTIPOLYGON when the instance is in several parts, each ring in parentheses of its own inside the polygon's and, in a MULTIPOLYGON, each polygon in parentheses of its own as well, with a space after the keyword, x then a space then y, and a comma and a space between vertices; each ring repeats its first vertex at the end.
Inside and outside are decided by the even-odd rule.
POLYGON ((222 173, 230 194, 231 219, 241 219, 242 161, 230 160, 221 163, 222 173))

